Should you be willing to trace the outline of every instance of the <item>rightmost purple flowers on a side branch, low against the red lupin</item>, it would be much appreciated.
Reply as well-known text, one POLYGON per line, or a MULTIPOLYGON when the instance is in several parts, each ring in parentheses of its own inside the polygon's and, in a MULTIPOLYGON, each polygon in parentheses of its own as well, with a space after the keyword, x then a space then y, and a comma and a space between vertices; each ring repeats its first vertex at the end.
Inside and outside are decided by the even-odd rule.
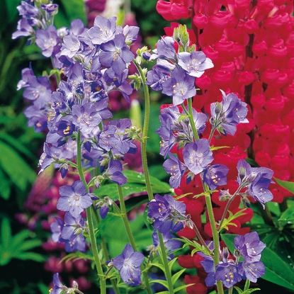
POLYGON ((259 201, 264 207, 264 203, 273 199, 273 194, 268 190, 270 183, 273 183, 273 171, 266 167, 251 167, 250 164, 240 159, 237 163, 239 186, 246 187, 246 194, 259 201))

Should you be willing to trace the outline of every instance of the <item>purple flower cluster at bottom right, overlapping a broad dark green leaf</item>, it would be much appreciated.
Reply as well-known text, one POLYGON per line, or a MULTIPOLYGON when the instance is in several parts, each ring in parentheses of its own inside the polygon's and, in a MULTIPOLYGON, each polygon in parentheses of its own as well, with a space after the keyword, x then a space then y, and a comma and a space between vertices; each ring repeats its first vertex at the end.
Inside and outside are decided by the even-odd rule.
POLYGON ((225 248, 221 252, 222 260, 214 268, 213 257, 198 253, 203 257, 200 263, 204 270, 208 273, 205 283, 208 287, 213 286, 216 281, 222 281, 227 288, 231 288, 234 284, 242 279, 256 283, 265 273, 264 264, 260 261, 261 251, 266 245, 259 240, 256 232, 250 232, 244 236, 234 238, 234 247, 236 260, 229 259, 229 252, 225 248), (239 261, 241 259, 242 261, 239 261))

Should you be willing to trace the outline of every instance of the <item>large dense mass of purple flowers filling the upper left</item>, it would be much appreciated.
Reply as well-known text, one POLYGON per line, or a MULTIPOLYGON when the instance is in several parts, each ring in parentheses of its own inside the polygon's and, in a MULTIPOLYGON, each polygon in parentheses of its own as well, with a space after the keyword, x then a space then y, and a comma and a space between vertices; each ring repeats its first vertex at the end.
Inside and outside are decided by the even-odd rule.
MULTIPOLYGON (((57 8, 52 5, 50 2, 38 8, 22 1, 18 11, 26 20, 38 18, 44 22, 44 13, 53 16, 57 8)), ((18 82, 18 90, 24 89, 23 97, 33 103, 25 111, 28 126, 38 132, 49 130, 39 163, 41 171, 55 164, 65 176, 69 162, 77 157, 77 133, 81 132, 84 162, 101 165, 106 179, 125 183, 123 167, 115 159, 137 150, 128 136, 131 121, 113 120, 105 125, 103 120, 112 117, 108 110, 111 91, 120 91, 130 101, 128 64, 135 57, 130 45, 138 31, 135 26, 116 26, 115 17, 97 16, 89 30, 77 19, 69 29, 58 31, 45 23, 35 32, 35 43, 43 55, 52 57, 55 67, 64 74, 53 92, 48 77, 35 77, 31 68, 23 69, 18 82)))

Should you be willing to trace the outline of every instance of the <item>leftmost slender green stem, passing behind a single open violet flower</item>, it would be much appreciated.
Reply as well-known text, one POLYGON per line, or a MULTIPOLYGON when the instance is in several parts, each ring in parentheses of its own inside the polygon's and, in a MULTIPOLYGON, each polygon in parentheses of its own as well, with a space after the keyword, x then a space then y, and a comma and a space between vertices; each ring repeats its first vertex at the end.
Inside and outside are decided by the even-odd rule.
MULTIPOLYGON (((80 177, 81 181, 84 183, 84 186, 86 188, 86 192, 88 193, 89 187, 86 183, 84 171, 81 166, 81 132, 80 132, 80 130, 78 131, 78 135, 77 135, 77 164, 78 164, 79 177, 80 177)), ((86 208, 86 219, 87 219, 88 227, 89 227, 91 249, 92 249, 92 253, 94 256, 94 261, 95 261, 98 277, 100 280, 101 294, 106 294, 106 281, 103 278, 104 273, 103 273, 101 261, 98 256, 98 248, 97 248, 96 237, 95 237, 95 233, 94 233, 94 224, 93 224, 93 217, 92 217, 92 213, 91 213, 91 206, 89 208, 86 208)))

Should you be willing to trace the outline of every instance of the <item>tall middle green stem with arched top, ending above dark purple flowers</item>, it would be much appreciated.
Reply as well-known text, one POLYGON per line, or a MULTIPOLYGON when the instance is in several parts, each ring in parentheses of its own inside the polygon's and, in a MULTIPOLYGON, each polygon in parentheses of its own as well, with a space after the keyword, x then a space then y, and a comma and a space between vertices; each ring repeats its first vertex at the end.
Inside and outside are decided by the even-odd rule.
POLYGON ((149 89, 146 84, 146 77, 142 71, 142 68, 135 60, 133 60, 133 62, 135 64, 135 66, 137 67, 138 72, 140 73, 140 77, 141 77, 142 83, 143 83, 144 96, 145 96, 145 116, 144 116, 143 130, 142 130, 141 153, 142 153, 142 166, 143 166, 143 171, 144 171, 144 175, 145 175, 145 182, 146 182, 148 198, 149 198, 149 201, 151 201, 154 197, 153 197, 153 193, 152 193, 152 187, 151 187, 148 164, 147 164, 147 137, 148 137, 149 117, 150 117, 149 89))

